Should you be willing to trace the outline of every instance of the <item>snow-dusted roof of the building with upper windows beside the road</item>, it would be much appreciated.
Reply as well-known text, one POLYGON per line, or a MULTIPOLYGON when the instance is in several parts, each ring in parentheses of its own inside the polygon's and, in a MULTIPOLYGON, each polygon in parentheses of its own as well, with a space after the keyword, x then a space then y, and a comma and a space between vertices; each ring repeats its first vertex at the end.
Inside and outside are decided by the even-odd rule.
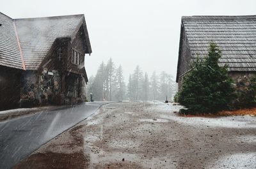
POLYGON ((56 38, 72 39, 81 26, 84 27, 84 34, 86 35, 87 52, 88 54, 92 53, 84 15, 12 19, 0 13, 1 18, 6 18, 2 19, 3 25, 8 25, 6 30, 1 30, 0 27, 0 38, 2 39, 2 36, 5 38, 2 41, 2 46, 0 42, 0 64, 2 64, 2 61, 4 66, 22 68, 22 61, 24 61, 26 70, 37 70, 56 38), (17 36, 15 36, 15 33, 17 36), (9 47, 10 45, 12 46, 9 47), (2 56, 1 50, 3 47, 6 48, 7 52, 2 56), (15 54, 15 58, 12 54, 7 55, 10 48, 15 54), (6 60, 8 56, 12 59, 12 62, 6 60), (15 66, 10 63, 15 64, 15 66))

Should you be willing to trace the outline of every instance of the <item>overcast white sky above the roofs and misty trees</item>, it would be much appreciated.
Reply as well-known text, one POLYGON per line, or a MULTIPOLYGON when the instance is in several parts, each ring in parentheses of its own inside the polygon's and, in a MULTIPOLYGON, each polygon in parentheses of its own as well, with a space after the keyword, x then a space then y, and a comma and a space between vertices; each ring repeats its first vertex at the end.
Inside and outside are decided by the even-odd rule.
POLYGON ((125 80, 137 64, 176 77, 183 15, 256 15, 255 7, 255 0, 0 0, 0 11, 12 18, 83 13, 93 50, 86 55, 88 77, 112 57, 125 80))

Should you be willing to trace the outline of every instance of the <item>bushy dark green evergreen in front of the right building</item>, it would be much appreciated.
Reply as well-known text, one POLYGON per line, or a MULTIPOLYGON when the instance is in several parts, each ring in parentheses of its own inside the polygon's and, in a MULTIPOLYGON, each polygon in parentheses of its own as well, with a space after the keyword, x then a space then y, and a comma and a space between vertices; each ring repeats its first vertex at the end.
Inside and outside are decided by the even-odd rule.
POLYGON ((183 112, 209 114, 229 108, 234 99, 234 88, 227 65, 218 65, 220 57, 218 45, 210 43, 208 57, 197 59, 192 70, 184 77, 179 102, 188 110, 183 112))

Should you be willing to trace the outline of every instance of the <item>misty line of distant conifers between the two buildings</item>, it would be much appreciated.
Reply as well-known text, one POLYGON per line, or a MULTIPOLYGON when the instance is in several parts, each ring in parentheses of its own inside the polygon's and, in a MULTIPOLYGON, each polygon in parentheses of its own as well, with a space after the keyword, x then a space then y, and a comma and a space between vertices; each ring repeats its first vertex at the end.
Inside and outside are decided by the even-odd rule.
POLYGON ((151 77, 148 73, 136 66, 134 72, 129 75, 129 82, 126 85, 122 66, 117 68, 109 59, 107 64, 102 62, 97 70, 97 74, 89 78, 86 87, 87 98, 90 93, 94 100, 108 101, 148 101, 165 100, 166 96, 170 100, 177 92, 177 85, 172 75, 166 72, 157 75, 156 71, 151 77))

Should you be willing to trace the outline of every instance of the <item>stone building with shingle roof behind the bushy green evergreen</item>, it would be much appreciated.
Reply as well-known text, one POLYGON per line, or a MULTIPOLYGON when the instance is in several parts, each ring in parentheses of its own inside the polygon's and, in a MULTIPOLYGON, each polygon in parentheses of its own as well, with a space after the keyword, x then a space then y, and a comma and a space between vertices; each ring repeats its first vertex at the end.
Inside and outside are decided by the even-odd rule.
POLYGON ((228 65, 237 88, 250 84, 256 74, 256 15, 182 17, 176 82, 191 69, 196 57, 208 54, 209 43, 218 43, 219 65, 228 65))

